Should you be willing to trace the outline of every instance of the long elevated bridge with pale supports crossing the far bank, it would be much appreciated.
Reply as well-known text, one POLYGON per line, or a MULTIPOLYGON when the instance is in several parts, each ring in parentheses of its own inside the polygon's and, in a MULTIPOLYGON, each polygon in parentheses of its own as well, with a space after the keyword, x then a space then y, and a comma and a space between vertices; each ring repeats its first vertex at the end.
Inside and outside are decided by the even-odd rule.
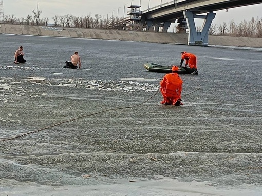
POLYGON ((124 18, 122 24, 130 30, 141 31, 145 28, 151 32, 167 32, 171 23, 185 18, 189 29, 188 45, 207 46, 208 31, 216 15, 214 11, 260 3, 261 0, 173 0, 153 8, 148 6, 143 11, 141 6, 131 5, 128 7, 131 10, 127 12, 130 17, 124 18), (196 31, 195 18, 204 19, 201 32, 196 31))

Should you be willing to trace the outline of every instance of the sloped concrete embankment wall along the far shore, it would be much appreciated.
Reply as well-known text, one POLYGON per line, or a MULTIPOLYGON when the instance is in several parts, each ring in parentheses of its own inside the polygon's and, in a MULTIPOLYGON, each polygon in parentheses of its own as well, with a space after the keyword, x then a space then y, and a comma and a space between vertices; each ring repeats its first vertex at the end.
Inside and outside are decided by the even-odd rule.
MULTIPOLYGON (((188 34, 0 24, 0 33, 186 44, 188 34)), ((209 45, 262 47, 262 38, 209 36, 209 45)))

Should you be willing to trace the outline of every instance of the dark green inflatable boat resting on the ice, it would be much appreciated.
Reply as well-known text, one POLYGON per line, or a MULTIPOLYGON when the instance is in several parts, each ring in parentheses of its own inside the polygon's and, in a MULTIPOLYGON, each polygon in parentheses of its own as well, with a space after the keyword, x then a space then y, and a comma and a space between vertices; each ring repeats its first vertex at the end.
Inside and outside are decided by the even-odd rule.
MULTIPOLYGON (((156 63, 145 63, 144 68, 148 71, 158 72, 158 73, 172 73, 171 68, 172 66, 177 65, 159 65, 156 63)), ((191 74, 194 70, 190 69, 189 67, 178 67, 178 74, 191 74)))

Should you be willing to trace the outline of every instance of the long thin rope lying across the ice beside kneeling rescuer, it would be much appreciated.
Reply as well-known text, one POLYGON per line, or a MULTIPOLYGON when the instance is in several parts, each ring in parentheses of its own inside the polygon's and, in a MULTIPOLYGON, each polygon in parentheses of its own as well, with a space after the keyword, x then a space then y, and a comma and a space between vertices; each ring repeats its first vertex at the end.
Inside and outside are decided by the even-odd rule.
MULTIPOLYGON (((185 94, 183 95, 182 97, 185 97, 185 96, 188 96, 194 92, 196 92, 197 90, 201 89, 201 87, 199 87, 198 89, 188 93, 188 94, 185 94)), ((137 107, 137 106, 140 106, 146 102, 148 102, 149 100, 151 100, 154 96, 156 96, 158 93, 160 92, 157 91, 156 94, 154 94, 153 96, 151 96, 149 99, 147 99, 146 101, 140 103, 140 104, 137 104, 137 105, 134 105, 134 106, 127 106, 127 107, 122 107, 122 108, 113 108, 113 109, 108 109, 108 110, 103 110, 103 111, 100 111, 100 112, 96 112, 96 113, 92 113, 92 114, 87 114, 87 115, 83 115, 83 116, 80 116, 80 117, 76 117, 74 119, 69 119, 69 120, 66 120, 66 121, 63 121, 63 122, 60 122, 60 123, 57 123, 57 124, 54 124, 54 125, 50 125, 48 127, 45 127, 45 128, 42 128, 42 129, 38 129, 38 130, 34 130, 34 131, 31 131, 31 132, 28 132, 28 133, 24 133, 24 134, 21 134, 21 135, 17 135, 17 136, 14 136, 12 138, 7 138, 7 139, 3 139, 3 140, 0 140, 0 142, 4 142, 4 141, 7 141, 7 140, 13 140, 13 139, 17 139, 17 138, 22 138, 23 136, 26 136, 26 135, 29 135, 29 134, 32 134, 32 133, 36 133, 36 132, 39 132, 39 131, 43 131, 45 129, 49 129, 51 127, 55 127, 55 126, 58 126, 58 125, 61 125, 61 124, 64 124, 64 123, 67 123, 67 122, 70 122, 70 121, 75 121, 75 120, 78 120, 78 119, 82 119, 84 117, 88 117, 88 116, 91 116, 91 115, 96 115, 96 114, 99 114, 99 113, 104 113, 104 112, 108 112, 108 111, 113 111, 113 110, 119 110, 119 109, 126 109, 126 108, 134 108, 134 107, 137 107)))

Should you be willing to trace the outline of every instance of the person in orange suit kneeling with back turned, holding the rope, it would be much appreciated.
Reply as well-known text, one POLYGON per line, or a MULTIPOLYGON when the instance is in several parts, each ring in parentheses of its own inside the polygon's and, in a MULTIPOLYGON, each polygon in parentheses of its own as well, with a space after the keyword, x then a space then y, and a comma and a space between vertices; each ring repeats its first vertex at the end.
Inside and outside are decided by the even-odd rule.
POLYGON ((163 80, 160 82, 160 91, 163 95, 163 101, 161 104, 183 105, 181 103, 181 92, 183 81, 178 75, 178 67, 172 67, 172 73, 168 73, 163 77, 163 80))

